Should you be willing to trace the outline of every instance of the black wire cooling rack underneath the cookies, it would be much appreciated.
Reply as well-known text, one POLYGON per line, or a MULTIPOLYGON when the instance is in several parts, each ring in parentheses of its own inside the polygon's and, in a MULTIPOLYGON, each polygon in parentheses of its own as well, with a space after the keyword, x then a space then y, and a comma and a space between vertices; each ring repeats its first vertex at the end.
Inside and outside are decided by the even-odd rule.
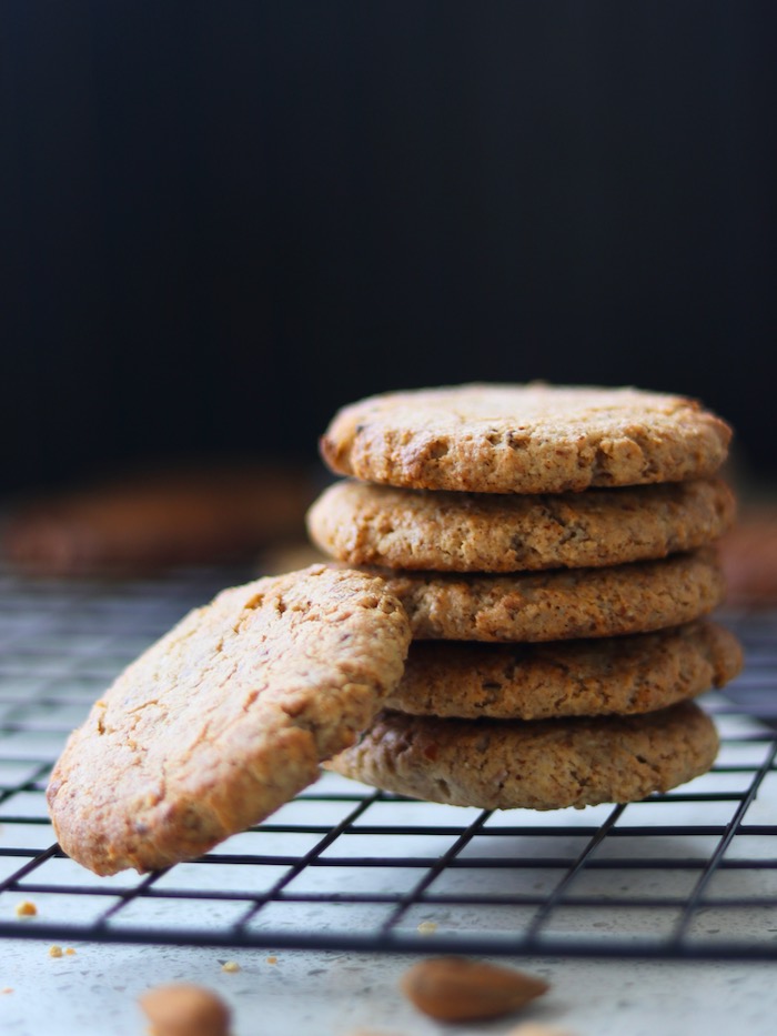
POLYGON ((745 673, 703 704, 723 746, 626 806, 481 812, 325 774, 205 857, 99 878, 44 788, 110 680, 250 573, 56 582, 0 572, 0 937, 270 949, 777 958, 777 615, 724 616, 745 673), (37 914, 17 916, 24 901, 37 914))

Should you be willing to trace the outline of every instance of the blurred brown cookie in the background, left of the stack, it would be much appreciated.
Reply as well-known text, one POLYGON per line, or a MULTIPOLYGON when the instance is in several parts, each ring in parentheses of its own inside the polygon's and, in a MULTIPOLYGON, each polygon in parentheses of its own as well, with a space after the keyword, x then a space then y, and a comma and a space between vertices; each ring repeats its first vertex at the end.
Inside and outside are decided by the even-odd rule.
POLYGON ((56 576, 254 560, 304 535, 317 489, 306 469, 274 462, 137 472, 18 504, 3 554, 56 576))

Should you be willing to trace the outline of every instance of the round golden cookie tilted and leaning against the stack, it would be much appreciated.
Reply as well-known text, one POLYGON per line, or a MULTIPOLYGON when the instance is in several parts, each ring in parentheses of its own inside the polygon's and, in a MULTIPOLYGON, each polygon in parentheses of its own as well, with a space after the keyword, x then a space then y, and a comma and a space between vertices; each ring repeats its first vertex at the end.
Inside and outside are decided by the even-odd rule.
POLYGON ((98 874, 204 853, 314 782, 402 675, 402 606, 315 565, 232 587, 119 676, 57 763, 57 837, 98 874))

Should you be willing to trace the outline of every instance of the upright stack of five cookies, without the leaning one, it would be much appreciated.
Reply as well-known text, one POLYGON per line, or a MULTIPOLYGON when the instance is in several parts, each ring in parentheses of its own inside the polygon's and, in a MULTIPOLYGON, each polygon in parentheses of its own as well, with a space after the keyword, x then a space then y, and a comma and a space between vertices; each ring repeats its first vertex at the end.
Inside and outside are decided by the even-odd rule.
POLYGON ((456 805, 629 802, 706 772, 693 698, 738 672, 714 542, 730 430, 633 389, 465 385, 375 396, 322 440, 313 542, 380 575, 405 673, 327 765, 456 805))

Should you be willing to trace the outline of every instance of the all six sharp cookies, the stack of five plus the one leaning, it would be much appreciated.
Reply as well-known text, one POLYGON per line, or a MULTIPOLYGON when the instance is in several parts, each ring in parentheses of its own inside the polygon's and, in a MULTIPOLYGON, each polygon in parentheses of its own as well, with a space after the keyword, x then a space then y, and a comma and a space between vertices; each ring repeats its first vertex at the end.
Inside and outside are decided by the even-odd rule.
POLYGON ((724 594, 729 436, 634 390, 345 409, 323 452, 353 477, 310 512, 339 563, 222 591, 117 677, 51 774, 61 847, 98 874, 196 858, 322 762, 484 808, 628 802, 703 773, 717 735, 692 698, 740 665, 704 617, 724 594))

